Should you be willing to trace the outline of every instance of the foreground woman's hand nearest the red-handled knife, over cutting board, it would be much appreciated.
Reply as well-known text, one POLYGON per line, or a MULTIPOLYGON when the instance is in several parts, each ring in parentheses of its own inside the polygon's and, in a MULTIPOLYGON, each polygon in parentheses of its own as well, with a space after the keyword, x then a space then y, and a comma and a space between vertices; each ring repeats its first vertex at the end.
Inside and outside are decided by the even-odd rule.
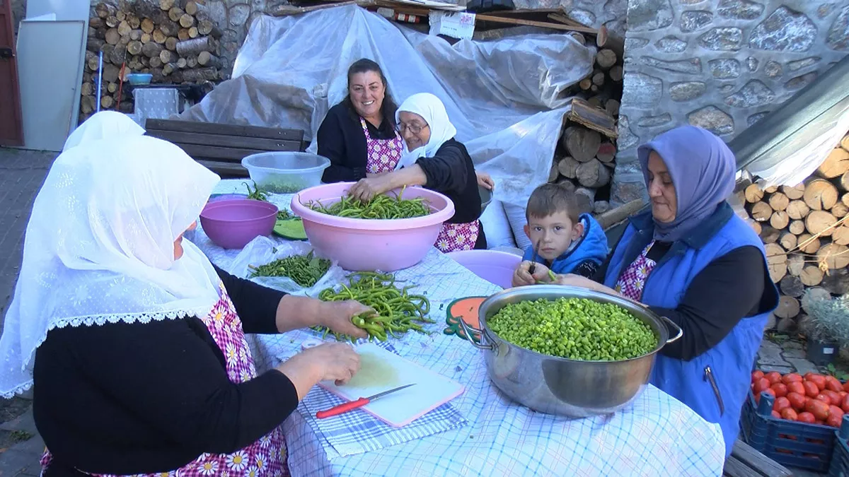
POLYGON ((324 343, 301 351, 276 369, 295 384, 300 401, 318 381, 333 379, 337 385, 347 383, 360 370, 360 356, 346 343, 324 343))

